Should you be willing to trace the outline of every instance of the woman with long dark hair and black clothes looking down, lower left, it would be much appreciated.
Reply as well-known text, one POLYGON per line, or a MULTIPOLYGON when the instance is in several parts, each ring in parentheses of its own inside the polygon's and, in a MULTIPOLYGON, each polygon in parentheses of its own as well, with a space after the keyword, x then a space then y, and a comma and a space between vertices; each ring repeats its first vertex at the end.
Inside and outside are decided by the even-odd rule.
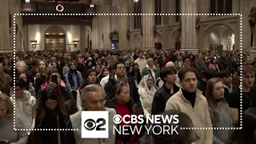
POLYGON ((60 144, 64 143, 64 131, 69 115, 64 98, 58 93, 58 89, 47 86, 42 90, 37 101, 35 129, 36 143, 39 144, 60 144), (57 129, 57 130, 49 130, 57 129))

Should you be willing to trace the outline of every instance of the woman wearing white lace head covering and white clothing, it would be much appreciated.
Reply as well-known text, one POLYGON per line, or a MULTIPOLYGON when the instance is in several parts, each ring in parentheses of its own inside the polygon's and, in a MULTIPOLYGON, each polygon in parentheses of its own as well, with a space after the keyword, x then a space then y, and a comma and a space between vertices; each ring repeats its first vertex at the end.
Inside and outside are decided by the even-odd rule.
POLYGON ((140 95, 145 115, 150 115, 154 93, 156 91, 153 86, 153 78, 151 78, 150 74, 145 75, 138 84, 138 94, 140 95))

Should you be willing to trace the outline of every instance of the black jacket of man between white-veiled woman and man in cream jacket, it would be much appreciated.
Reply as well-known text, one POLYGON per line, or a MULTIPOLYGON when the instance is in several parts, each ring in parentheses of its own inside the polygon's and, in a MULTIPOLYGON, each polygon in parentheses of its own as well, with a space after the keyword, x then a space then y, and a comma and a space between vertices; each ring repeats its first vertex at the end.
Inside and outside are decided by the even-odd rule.
MULTIPOLYGON (((179 87, 174 84, 173 94, 176 94, 178 90, 179 87)), ((167 89, 166 84, 163 84, 162 87, 154 94, 151 114, 160 114, 164 112, 166 110, 166 102, 173 94, 170 94, 170 89, 167 89)))

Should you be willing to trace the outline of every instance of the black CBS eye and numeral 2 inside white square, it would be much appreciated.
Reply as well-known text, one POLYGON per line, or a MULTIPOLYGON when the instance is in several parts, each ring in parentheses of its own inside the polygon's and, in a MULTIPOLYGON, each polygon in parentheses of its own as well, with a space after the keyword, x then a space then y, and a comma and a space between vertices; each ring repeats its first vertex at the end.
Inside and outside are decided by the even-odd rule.
POLYGON ((95 122, 94 119, 86 119, 86 121, 83 123, 86 130, 94 130, 96 127, 96 130, 106 130, 106 128, 102 128, 102 126, 106 125, 106 120, 104 118, 98 118, 95 122))

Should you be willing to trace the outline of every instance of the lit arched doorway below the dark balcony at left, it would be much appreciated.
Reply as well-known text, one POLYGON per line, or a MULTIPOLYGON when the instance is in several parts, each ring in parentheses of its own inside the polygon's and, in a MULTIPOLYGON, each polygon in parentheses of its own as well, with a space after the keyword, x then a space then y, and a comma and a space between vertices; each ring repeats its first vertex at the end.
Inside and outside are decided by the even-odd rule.
POLYGON ((45 50, 66 50, 66 34, 60 26, 50 26, 46 30, 45 50))

